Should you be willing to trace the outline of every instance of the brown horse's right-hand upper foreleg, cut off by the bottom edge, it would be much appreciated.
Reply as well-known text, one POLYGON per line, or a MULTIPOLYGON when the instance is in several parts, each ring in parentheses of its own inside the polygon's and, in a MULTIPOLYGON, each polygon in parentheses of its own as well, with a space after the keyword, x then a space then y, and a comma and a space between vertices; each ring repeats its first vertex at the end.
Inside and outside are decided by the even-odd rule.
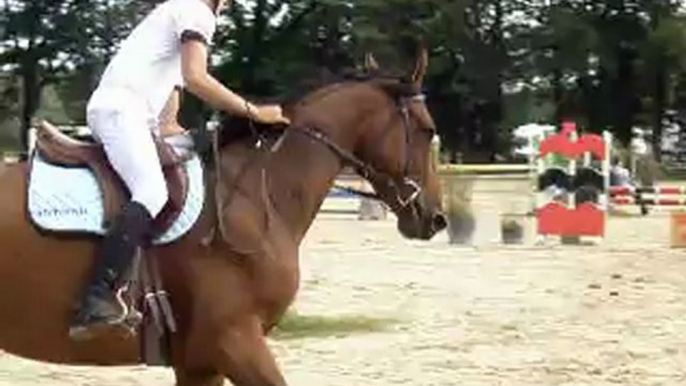
POLYGON ((217 367, 235 386, 286 386, 256 318, 227 328, 217 367))

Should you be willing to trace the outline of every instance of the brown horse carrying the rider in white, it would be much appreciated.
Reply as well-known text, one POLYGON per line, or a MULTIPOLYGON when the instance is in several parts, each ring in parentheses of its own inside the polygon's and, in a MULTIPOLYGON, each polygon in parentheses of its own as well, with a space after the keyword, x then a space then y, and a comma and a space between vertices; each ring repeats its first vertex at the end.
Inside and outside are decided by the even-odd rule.
MULTIPOLYGON (((299 244, 344 165, 369 178, 406 237, 429 239, 445 227, 434 125, 420 94, 426 66, 423 53, 411 81, 372 78, 309 94, 269 152, 251 139, 220 148, 218 200, 189 234, 146 256, 160 262, 179 326, 177 385, 286 384, 265 335, 296 295, 299 244)), ((32 226, 27 170, 19 163, 0 174, 0 349, 62 364, 139 363, 134 338, 68 338, 98 243, 32 226)))

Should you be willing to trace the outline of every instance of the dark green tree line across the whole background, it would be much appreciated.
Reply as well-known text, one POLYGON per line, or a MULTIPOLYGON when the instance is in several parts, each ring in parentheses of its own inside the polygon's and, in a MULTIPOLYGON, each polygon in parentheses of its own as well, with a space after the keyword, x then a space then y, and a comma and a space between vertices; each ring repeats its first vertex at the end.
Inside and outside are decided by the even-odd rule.
MULTIPOLYGON (((118 42, 152 7, 2 1, 0 122, 35 115, 54 84, 82 123, 118 42)), ((504 153, 507 131, 530 121, 575 119, 626 143, 632 126, 659 128, 665 110, 686 104, 679 11, 676 0, 242 1, 221 16, 213 73, 245 95, 284 98, 359 69, 367 52, 406 75, 423 42, 430 108, 445 146, 467 162, 504 153)))

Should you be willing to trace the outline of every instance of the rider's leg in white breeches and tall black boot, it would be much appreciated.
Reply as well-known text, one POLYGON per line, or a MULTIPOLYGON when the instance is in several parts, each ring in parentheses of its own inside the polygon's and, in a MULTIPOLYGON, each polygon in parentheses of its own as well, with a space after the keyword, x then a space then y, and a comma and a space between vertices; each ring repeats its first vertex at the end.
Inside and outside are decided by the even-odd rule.
POLYGON ((112 224, 96 260, 92 281, 70 328, 74 339, 123 324, 126 315, 116 293, 138 249, 150 239, 152 221, 168 200, 157 149, 146 120, 119 111, 89 113, 89 126, 129 191, 131 201, 112 224))

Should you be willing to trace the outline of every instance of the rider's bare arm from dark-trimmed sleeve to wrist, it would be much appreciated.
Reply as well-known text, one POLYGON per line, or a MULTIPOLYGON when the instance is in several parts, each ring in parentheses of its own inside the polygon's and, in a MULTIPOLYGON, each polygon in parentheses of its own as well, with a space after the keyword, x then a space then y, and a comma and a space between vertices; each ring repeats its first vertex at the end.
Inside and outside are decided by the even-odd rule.
POLYGON ((214 108, 250 116, 257 107, 232 92, 207 71, 207 45, 188 39, 181 46, 181 69, 187 89, 214 108))

